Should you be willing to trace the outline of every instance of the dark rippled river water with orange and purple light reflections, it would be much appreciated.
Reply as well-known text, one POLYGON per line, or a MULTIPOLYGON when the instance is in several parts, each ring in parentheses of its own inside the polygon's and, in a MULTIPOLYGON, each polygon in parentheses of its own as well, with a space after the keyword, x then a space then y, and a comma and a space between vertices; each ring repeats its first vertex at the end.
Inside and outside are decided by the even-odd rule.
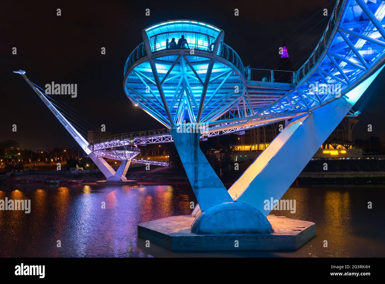
POLYGON ((0 211, 1 257, 383 257, 383 186, 290 188, 296 213, 271 214, 313 221, 317 236, 296 251, 170 252, 137 240, 137 224, 191 213, 189 186, 11 185, 0 199, 31 199, 31 213, 0 211), (373 209, 368 209, 368 201, 373 209), (105 202, 105 209, 102 203, 105 202), (57 240, 61 248, 57 248, 57 240), (323 247, 324 240, 328 247, 323 247))

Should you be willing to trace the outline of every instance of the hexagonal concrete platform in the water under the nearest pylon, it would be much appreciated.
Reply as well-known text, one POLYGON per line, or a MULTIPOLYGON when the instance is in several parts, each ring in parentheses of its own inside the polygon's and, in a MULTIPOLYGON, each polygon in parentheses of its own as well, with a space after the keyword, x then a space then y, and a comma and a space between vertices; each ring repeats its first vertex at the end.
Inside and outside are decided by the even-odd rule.
POLYGON ((140 223, 138 238, 169 250, 296 250, 315 237, 315 223, 269 215, 271 234, 195 235, 194 217, 172 216, 140 223), (235 246, 238 241, 238 247, 235 246))

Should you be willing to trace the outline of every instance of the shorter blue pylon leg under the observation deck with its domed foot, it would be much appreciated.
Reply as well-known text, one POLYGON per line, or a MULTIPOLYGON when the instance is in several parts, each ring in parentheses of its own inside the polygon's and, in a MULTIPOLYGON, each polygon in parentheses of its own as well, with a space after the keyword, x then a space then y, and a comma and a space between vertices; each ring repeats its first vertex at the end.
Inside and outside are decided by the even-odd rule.
POLYGON ((259 210, 233 201, 199 148, 199 132, 181 133, 182 127, 177 129, 170 130, 172 139, 202 210, 192 223, 191 232, 198 235, 273 232, 259 210))

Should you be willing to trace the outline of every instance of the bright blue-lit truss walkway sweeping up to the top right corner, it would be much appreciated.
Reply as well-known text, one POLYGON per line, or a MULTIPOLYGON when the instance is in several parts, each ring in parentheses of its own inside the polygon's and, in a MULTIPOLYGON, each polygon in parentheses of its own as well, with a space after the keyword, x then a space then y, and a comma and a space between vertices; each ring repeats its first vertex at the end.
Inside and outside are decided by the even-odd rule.
POLYGON ((321 40, 296 72, 295 88, 257 112, 311 112, 345 95, 370 76, 383 58, 385 12, 384 2, 368 3, 370 8, 363 0, 338 0, 321 40), (355 14, 350 14, 350 9, 355 14), (370 37, 377 30, 382 40, 370 37), (329 90, 330 85, 335 86, 334 93, 320 91, 329 90))

